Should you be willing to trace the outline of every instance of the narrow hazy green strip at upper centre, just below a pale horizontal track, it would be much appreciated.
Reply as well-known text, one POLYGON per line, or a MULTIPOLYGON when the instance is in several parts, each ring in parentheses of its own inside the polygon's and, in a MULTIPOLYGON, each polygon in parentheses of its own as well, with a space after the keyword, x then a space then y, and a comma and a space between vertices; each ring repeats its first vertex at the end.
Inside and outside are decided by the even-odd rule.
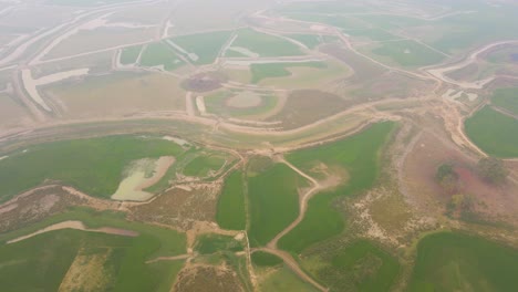
POLYGON ((328 65, 323 62, 251 64, 251 83, 259 83, 265 79, 290 76, 291 72, 288 69, 298 66, 325 69, 328 65))

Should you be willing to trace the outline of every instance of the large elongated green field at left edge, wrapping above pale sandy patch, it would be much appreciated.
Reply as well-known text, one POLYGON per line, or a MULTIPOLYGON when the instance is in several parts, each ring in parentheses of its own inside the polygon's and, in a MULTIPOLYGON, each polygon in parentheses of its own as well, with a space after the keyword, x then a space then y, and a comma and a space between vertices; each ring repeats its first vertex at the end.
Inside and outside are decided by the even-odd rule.
POLYGON ((0 201, 60 180, 91 196, 110 198, 133 160, 176 156, 184 149, 160 138, 111 136, 41 144, 0 161, 0 201))

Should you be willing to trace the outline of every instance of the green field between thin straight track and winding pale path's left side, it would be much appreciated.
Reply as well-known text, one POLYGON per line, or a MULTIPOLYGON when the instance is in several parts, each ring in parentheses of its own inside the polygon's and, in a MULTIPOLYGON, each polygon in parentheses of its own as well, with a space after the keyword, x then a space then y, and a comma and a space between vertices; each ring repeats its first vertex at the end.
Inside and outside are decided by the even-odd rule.
POLYGON ((250 244, 265 246, 299 216, 298 188, 307 181, 284 164, 274 164, 248 181, 250 244))

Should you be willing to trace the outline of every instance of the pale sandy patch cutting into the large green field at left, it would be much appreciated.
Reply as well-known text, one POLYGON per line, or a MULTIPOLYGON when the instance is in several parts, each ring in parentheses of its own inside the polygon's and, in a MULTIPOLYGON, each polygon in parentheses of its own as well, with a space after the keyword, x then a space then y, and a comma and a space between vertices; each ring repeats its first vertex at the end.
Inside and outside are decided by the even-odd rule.
POLYGON ((130 175, 121 181, 114 200, 146 201, 154 195, 144 189, 155 185, 175 163, 175 158, 164 156, 158 159, 141 159, 134 161, 128 170, 130 175))

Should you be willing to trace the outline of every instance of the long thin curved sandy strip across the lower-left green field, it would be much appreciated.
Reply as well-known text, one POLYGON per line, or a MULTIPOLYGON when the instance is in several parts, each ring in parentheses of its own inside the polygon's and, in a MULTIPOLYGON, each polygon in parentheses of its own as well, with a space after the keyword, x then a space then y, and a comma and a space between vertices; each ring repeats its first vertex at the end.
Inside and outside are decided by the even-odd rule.
POLYGON ((51 232, 55 230, 62 230, 62 229, 75 229, 75 230, 87 231, 87 232, 99 232, 99 233, 115 234, 115 236, 123 236, 123 237, 137 237, 138 236, 138 233, 135 231, 111 228, 111 227, 86 228, 83 222, 71 220, 71 221, 64 221, 64 222, 60 222, 60 223, 45 227, 43 229, 40 229, 33 233, 30 233, 23 237, 11 239, 7 243, 8 244, 15 243, 15 242, 42 234, 42 233, 46 233, 46 232, 51 232))

